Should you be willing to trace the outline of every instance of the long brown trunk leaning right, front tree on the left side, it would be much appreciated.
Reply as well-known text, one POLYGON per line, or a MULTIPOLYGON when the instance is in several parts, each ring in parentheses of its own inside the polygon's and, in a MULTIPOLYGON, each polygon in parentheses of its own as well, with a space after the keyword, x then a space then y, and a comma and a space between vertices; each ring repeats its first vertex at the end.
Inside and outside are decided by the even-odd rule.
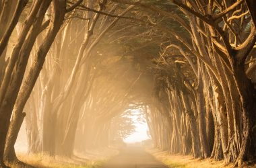
MULTIPOLYGON (((51 1, 45 1, 43 3, 42 7, 42 14, 46 12, 46 9, 48 9, 51 1)), ((56 6, 55 6, 56 7, 56 6)), ((34 87, 34 84, 36 83, 36 79, 38 78, 38 75, 40 73, 40 70, 42 69, 42 65, 44 64, 44 59, 49 51, 51 44, 53 44, 53 40, 55 39, 55 36, 57 36, 57 33, 59 32, 59 29, 61 28, 65 11, 65 3, 59 3, 58 6, 55 9, 55 16, 54 16, 54 22, 51 25, 51 29, 46 34, 46 38, 44 38, 44 41, 42 42, 42 45, 38 49, 38 52, 36 54, 36 60, 32 67, 30 68, 30 71, 28 73, 28 77, 26 77, 24 85, 22 85, 22 88, 19 91, 18 99, 15 103, 15 111, 13 114, 13 122, 11 123, 11 127, 9 130, 10 136, 8 141, 10 141, 10 144, 8 146, 14 146, 15 140, 18 136, 18 132, 20 130, 20 126, 23 121, 22 118, 20 118, 22 115, 22 111, 24 109, 24 106, 26 104, 26 101, 28 100, 28 97, 30 96, 30 93, 32 91, 32 88, 34 87)), ((42 15, 43 18, 44 15, 42 15)), ((41 22, 42 23, 42 20, 41 22)), ((41 24, 40 24, 41 25, 41 24)), ((35 40, 35 39, 34 39, 35 40)), ((32 40, 33 41, 33 40, 32 40)), ((24 73, 24 72, 23 72, 24 73)), ((20 83, 21 84, 21 83, 20 83)), ((11 151, 9 149, 6 149, 7 151, 11 151)), ((13 155, 13 153, 7 153, 7 156, 13 155)))

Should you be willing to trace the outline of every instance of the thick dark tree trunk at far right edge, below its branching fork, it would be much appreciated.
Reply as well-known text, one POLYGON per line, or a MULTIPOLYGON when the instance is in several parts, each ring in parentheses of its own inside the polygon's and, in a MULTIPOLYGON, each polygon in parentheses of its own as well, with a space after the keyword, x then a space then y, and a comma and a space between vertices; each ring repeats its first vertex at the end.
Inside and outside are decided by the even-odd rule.
POLYGON ((243 136, 241 151, 236 159, 236 163, 241 165, 243 161, 253 160, 256 157, 256 92, 253 83, 245 74, 245 65, 236 65, 234 67, 234 77, 236 87, 241 95, 243 108, 243 136))

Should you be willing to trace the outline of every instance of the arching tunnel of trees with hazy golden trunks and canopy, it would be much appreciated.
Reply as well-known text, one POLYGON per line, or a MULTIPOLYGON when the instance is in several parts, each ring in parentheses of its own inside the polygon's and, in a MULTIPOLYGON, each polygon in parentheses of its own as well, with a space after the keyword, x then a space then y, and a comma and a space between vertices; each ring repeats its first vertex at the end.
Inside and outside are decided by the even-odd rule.
POLYGON ((256 1, 0 0, 0 167, 71 157, 133 130, 155 148, 256 159, 256 1))

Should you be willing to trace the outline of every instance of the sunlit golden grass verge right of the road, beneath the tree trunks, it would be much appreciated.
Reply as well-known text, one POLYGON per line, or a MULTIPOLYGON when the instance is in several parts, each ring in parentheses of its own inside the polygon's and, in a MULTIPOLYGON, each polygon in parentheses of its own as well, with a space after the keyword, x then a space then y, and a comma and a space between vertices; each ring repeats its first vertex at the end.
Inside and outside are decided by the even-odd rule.
POLYGON ((233 165, 226 165, 224 161, 214 161, 212 159, 194 159, 192 156, 170 155, 166 151, 147 149, 156 159, 162 161, 168 167, 173 168, 231 168, 233 165))

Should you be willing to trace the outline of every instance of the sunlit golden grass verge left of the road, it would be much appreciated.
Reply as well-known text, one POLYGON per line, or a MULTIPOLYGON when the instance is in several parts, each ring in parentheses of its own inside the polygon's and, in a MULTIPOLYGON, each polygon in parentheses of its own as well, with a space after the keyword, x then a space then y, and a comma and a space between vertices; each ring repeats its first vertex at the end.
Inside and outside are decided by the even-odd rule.
POLYGON ((75 153, 72 158, 54 158, 48 155, 26 155, 25 153, 18 153, 18 159, 32 167, 96 168, 101 167, 106 160, 113 157, 113 155, 118 155, 118 153, 119 151, 111 148, 87 151, 86 153, 75 153))

